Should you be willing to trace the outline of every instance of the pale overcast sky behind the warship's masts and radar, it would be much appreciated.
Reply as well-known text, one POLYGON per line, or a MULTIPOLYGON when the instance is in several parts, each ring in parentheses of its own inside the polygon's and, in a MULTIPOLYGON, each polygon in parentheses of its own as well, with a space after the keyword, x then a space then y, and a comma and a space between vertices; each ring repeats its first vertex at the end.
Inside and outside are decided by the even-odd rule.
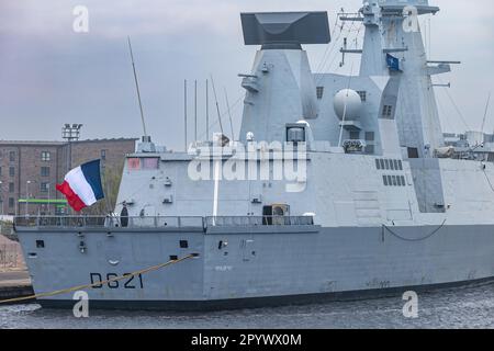
MULTIPOLYGON (((480 129, 489 92, 494 92, 494 3, 430 3, 442 10, 420 20, 430 27, 430 59, 462 61, 441 81, 435 78, 452 84, 450 98, 445 88, 436 89, 442 127, 480 129)), ((222 113, 226 88, 238 129, 244 91, 237 73, 250 71, 256 50, 243 45, 239 12, 324 10, 333 29, 337 11, 360 5, 360 0, 1 0, 0 139, 60 139, 64 123, 82 123, 83 138, 141 136, 127 35, 154 140, 182 147, 184 79, 190 88, 199 81, 199 128, 204 131, 204 81, 210 73, 222 113), (76 5, 89 10, 89 33, 72 30, 76 5)), ((359 46, 361 34, 356 26, 340 37, 359 46)), ((350 64, 338 68, 341 44, 330 45, 335 48, 326 59, 326 46, 306 47, 313 70, 348 73, 350 64)), ((192 89, 189 98, 192 102, 192 89)), ((494 129, 494 97, 492 102, 486 132, 494 129)), ((193 116, 193 104, 189 106, 193 116)), ((213 100, 210 106, 213 121, 213 100)))

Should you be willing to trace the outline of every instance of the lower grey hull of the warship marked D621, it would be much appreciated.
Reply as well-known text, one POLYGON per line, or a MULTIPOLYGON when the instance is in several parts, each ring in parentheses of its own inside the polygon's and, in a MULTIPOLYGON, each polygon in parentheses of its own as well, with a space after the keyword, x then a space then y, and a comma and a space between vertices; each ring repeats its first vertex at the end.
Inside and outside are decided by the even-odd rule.
MULTIPOLYGON (((197 253, 159 271, 87 290, 91 308, 165 310, 358 299, 487 282, 494 278, 493 230, 494 226, 392 231, 295 226, 109 235, 18 228, 37 294, 104 282, 197 253)), ((38 303, 71 308, 72 294, 38 303)))

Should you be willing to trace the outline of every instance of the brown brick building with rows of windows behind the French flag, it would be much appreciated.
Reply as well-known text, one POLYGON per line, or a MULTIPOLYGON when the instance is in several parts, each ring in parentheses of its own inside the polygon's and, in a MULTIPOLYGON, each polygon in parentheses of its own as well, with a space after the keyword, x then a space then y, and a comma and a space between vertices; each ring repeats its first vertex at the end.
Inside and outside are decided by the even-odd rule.
POLYGON ((101 159, 102 168, 119 169, 135 149, 134 138, 78 141, 0 140, 0 215, 67 213, 55 189, 68 170, 101 159))

